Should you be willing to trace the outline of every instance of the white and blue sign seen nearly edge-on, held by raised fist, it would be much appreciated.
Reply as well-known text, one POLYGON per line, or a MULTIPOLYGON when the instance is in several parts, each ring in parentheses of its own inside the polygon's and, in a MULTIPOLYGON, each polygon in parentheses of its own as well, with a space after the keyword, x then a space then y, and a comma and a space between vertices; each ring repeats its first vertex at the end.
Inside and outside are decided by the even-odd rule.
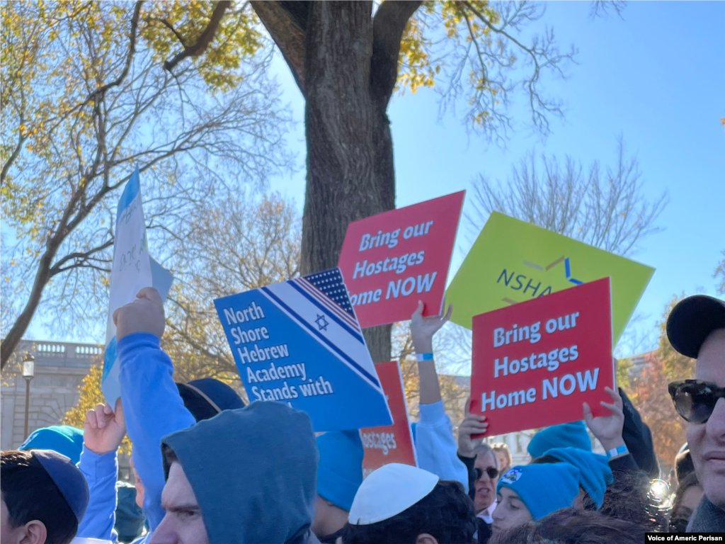
POLYGON ((128 179, 118 201, 114 236, 106 347, 101 376, 101 391, 107 403, 112 406, 115 406, 116 399, 121 395, 113 313, 117 308, 136 300, 136 293, 144 287, 156 287, 162 299, 165 299, 173 281, 171 273, 149 256, 138 168, 128 179))

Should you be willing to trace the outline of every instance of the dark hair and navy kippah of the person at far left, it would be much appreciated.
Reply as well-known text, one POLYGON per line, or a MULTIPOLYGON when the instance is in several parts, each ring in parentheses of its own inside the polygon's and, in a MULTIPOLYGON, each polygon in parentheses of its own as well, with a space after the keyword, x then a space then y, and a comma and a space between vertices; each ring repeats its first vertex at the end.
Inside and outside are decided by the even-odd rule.
POLYGON ((38 520, 48 532, 46 544, 68 544, 75 537, 75 514, 30 451, 0 451, 0 493, 12 527, 38 520))

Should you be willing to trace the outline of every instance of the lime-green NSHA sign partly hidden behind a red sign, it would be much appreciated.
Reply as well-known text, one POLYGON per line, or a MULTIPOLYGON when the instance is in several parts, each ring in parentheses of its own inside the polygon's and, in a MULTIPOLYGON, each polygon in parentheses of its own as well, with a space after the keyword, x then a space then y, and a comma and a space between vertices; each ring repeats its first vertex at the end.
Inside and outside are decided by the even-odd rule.
POLYGON ((655 269, 525 221, 492 213, 451 281, 451 321, 610 276, 614 343, 655 269))

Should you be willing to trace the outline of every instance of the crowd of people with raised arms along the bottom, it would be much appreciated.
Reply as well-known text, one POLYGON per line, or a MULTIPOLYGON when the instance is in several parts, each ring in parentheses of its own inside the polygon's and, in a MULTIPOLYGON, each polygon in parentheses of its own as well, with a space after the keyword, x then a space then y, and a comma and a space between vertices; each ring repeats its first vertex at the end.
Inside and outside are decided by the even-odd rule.
MULTIPOLYGON (((413 313, 418 354, 450 317, 413 313)), ((687 445, 674 461, 671 506, 650 429, 621 390, 606 416, 539 430, 528 464, 489 445, 486 417, 466 413, 455 440, 434 360, 418 358, 418 466, 390 463, 363 479, 353 429, 315 436, 284 403, 244 405, 218 380, 173 382, 159 347, 163 302, 152 288, 116 311, 121 396, 88 411, 83 430, 38 429, 0 452, 0 543, 599 544, 646 532, 725 531, 725 302, 696 295, 672 310, 671 345, 696 358, 670 384, 687 445), (128 434, 135 489, 117 482, 128 434), (593 435, 605 454, 592 451, 593 435), (134 504, 135 502, 135 504, 134 504), (98 539, 98 540, 93 540, 98 539)))

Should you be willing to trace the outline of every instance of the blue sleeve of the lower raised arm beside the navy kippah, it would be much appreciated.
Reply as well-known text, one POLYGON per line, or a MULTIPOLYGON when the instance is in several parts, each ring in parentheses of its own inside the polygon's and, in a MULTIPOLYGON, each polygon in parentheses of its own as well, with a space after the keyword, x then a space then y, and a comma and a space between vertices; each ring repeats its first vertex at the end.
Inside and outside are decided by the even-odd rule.
POLYGON ((115 542, 118 535, 116 523, 116 479, 118 463, 116 452, 99 456, 83 446, 78 469, 88 483, 88 508, 78 524, 76 536, 99 538, 115 542))

